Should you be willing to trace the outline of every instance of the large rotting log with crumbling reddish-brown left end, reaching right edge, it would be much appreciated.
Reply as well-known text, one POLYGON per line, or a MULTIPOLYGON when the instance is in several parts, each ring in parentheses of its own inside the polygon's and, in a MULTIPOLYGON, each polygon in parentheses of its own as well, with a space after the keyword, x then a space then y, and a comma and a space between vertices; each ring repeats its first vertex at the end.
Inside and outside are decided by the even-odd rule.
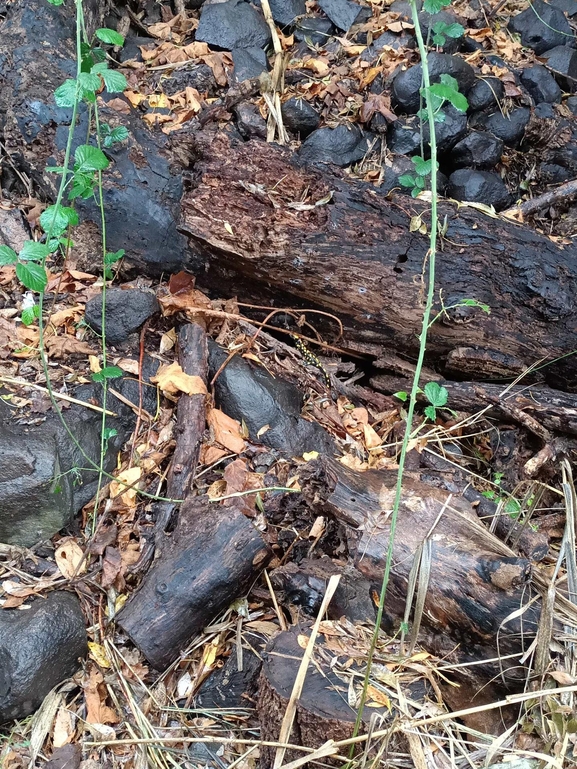
MULTIPOLYGON (((182 202, 181 229, 206 261, 199 280, 219 295, 333 312, 345 324, 341 347, 416 355, 428 238, 409 224, 416 214, 428 222, 427 206, 389 201, 342 173, 297 162, 272 144, 235 144, 225 135, 206 142, 182 202)), ((448 308, 473 298, 491 313, 449 309, 430 330, 429 361, 441 371, 500 378, 572 351, 576 247, 473 209, 442 205, 445 216, 436 296, 442 290, 448 308), (456 354, 463 346, 467 360, 456 354)), ((577 387, 577 358, 544 374, 563 389, 577 387)))

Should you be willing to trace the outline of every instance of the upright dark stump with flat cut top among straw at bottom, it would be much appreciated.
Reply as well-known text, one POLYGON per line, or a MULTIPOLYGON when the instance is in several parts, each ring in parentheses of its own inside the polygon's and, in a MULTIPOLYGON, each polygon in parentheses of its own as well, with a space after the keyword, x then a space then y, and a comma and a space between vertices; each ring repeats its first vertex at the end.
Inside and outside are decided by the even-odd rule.
MULTIPOLYGON (((308 625, 295 625, 279 633, 267 646, 259 680, 258 714, 261 739, 277 741, 304 649, 299 644, 310 636, 308 625)), ((346 682, 329 667, 335 651, 324 651, 325 639, 317 637, 313 663, 309 666, 289 742, 318 748, 328 739, 345 740, 352 736, 357 716, 355 708, 347 702, 346 682)), ((423 695, 421 688, 420 695, 423 695)), ((372 713, 384 708, 365 708, 363 728, 372 713)), ((300 758, 300 752, 287 750, 285 762, 300 758)), ((269 769, 274 762, 275 748, 261 747, 261 766, 269 769)), ((323 763, 330 763, 323 759, 323 763)), ((339 762, 340 765, 340 762, 339 762)))

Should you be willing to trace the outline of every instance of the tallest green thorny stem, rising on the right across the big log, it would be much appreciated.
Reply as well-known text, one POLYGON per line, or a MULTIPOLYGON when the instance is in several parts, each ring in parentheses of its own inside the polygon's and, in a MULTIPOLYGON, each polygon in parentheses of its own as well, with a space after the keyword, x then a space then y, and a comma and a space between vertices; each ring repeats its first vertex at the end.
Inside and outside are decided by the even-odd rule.
MULTIPOLYGON (((430 127, 430 147, 431 147, 431 227, 429 235, 429 253, 428 253, 428 289, 425 308, 423 310, 423 319, 421 324, 421 333, 419 335, 419 355, 417 363, 415 365, 415 373, 413 376, 413 384, 411 387, 411 395, 409 399, 409 407, 407 410, 407 420, 405 424, 405 432, 403 435, 403 442, 401 444, 401 453, 399 456, 399 470, 397 473, 397 484, 395 487, 395 498, 393 502, 393 510, 391 513, 391 523, 389 529, 389 545, 387 548, 387 556, 385 561, 385 573, 383 575, 383 583, 381 586, 381 592, 379 595, 379 607, 377 610, 377 618, 375 621, 375 632, 371 639, 371 645, 367 656, 367 670, 363 680, 363 689, 361 692, 361 698, 358 706, 357 718, 355 721, 355 728, 353 737, 356 737, 359 733, 363 710, 367 701, 367 691, 369 686, 371 666, 377 647, 379 638, 379 631, 381 628, 381 622, 383 619, 383 611, 385 607, 385 598, 387 595, 387 587, 389 585, 389 578, 391 574, 391 567, 393 563, 393 546, 395 542, 395 532, 397 527, 397 518, 399 516, 399 507, 401 504, 401 494, 403 490, 403 473, 405 469, 405 460, 407 457, 407 449, 409 446, 409 440, 411 436, 411 425, 413 422, 413 416, 415 413, 415 405, 417 403, 417 395, 419 392, 419 380, 421 378, 421 371, 423 369, 423 362, 425 359, 425 352, 427 350, 427 332, 429 329, 429 322, 431 318, 431 312, 435 299, 435 261, 437 250, 437 137, 435 132, 435 115, 433 110, 432 101, 430 98, 429 89, 431 87, 431 80, 429 77, 429 68, 427 62, 427 47, 423 40, 423 34, 419 24, 419 15, 417 12, 415 0, 410 0, 411 13, 413 17, 413 24, 415 25, 415 34, 417 37, 417 43, 419 47, 419 53, 421 55, 421 66, 423 69, 423 88, 425 92, 425 102, 427 108, 427 116, 429 119, 430 127)), ((423 268, 425 269, 425 268, 423 268)), ((351 746, 350 757, 353 756, 354 748, 351 746)))

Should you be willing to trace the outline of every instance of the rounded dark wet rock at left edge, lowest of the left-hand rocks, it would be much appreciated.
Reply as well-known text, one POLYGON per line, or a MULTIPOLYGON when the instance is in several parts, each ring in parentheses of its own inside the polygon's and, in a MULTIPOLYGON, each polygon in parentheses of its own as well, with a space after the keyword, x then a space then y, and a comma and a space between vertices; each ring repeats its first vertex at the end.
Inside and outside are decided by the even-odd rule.
POLYGON ((31 607, 0 612, 0 723, 33 713, 44 697, 80 667, 86 655, 80 603, 53 592, 31 607))

